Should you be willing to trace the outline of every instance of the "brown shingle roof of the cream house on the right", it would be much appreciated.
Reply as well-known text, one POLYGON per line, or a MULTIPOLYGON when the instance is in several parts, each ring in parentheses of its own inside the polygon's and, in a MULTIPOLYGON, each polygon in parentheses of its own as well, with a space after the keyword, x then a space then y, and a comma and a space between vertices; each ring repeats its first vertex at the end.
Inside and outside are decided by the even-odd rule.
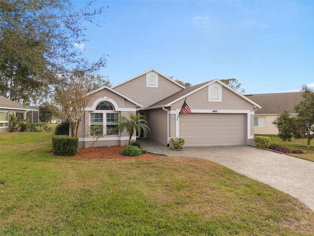
POLYGON ((283 110, 288 110, 290 114, 295 114, 294 106, 299 103, 301 92, 292 93, 261 93, 244 95, 253 102, 262 106, 255 111, 259 114, 279 114, 283 110))

